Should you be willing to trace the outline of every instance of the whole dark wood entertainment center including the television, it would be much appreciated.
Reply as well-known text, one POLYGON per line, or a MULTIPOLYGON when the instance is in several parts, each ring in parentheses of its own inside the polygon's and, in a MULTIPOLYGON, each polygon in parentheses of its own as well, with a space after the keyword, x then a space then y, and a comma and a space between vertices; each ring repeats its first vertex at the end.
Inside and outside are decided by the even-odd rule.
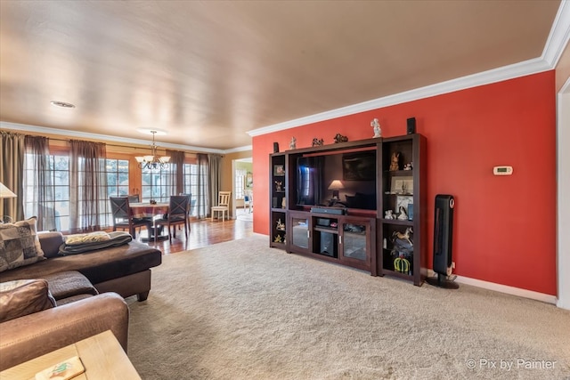
POLYGON ((425 152, 426 138, 413 133, 273 153, 270 247, 420 286, 428 263, 425 152), (328 197, 331 180, 341 180, 344 197, 328 197))

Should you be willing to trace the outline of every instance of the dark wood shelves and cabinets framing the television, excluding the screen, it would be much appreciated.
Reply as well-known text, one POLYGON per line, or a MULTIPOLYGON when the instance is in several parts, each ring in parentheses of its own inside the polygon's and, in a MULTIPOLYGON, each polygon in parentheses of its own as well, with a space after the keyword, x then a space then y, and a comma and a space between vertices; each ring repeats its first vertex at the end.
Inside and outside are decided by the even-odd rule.
MULTIPOLYGON (((425 137, 414 133, 273 153, 270 246, 370 271, 373 276, 395 276, 420 286, 427 274, 425 145, 425 137), (346 214, 320 214, 311 212, 311 206, 296 204, 297 178, 293 174, 297 158, 358 150, 376 154, 376 210, 347 208, 346 214), (399 166, 390 170, 395 152, 400 154, 399 166), (403 170, 410 162, 413 167, 403 170), (387 219, 388 210, 396 217, 402 210, 412 213, 403 220, 387 219), (403 242, 408 243, 408 251, 403 242)), ((338 171, 342 172, 342 167, 338 171)))

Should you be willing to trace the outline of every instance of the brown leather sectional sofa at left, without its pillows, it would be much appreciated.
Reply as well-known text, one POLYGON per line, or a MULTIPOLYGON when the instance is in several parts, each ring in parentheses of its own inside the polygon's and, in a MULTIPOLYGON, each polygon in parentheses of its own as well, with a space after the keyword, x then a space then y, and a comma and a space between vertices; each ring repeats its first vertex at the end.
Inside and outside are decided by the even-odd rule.
POLYGON ((151 268, 161 263, 162 253, 131 241, 120 247, 61 256, 60 232, 39 233, 38 237, 46 260, 0 272, 4 285, 35 279, 33 286, 47 300, 38 310, 13 318, 9 308, 14 300, 29 300, 30 295, 1 294, 0 370, 109 329, 126 351, 129 311, 123 297, 137 295, 139 301, 146 300, 151 268))

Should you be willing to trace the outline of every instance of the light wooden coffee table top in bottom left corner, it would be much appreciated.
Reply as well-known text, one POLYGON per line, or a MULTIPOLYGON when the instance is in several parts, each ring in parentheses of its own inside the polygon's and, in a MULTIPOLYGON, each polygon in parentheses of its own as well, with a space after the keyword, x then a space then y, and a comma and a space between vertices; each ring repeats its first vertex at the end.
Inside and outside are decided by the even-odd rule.
POLYGON ((88 337, 75 344, 69 344, 39 358, 28 360, 0 372, 0 379, 35 379, 37 372, 50 368, 63 360, 78 356, 83 362, 85 373, 73 377, 81 379, 141 379, 117 338, 110 330, 88 337))

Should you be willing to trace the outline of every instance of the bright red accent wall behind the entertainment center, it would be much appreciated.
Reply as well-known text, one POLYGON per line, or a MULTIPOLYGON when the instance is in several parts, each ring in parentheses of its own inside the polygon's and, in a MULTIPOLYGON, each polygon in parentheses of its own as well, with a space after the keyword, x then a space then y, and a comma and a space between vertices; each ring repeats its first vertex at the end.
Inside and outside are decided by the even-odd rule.
MULTIPOLYGON (((428 252, 432 267, 434 199, 456 200, 455 273, 556 295, 556 98, 554 70, 303 125, 253 138, 254 230, 269 233, 269 154, 289 149, 405 134, 406 118, 428 140, 428 252), (513 166, 494 176, 493 166, 513 166)), ((269 240, 267 241, 269 244, 269 240)))

